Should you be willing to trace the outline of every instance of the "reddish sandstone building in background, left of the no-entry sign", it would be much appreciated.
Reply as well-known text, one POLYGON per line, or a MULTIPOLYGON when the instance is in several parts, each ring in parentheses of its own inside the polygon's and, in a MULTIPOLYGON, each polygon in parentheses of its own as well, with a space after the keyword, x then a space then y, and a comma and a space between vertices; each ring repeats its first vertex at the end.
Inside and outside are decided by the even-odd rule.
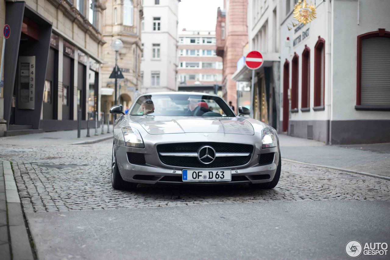
POLYGON ((237 85, 232 79, 237 61, 248 43, 246 23, 247 0, 224 0, 224 9, 218 8, 216 22, 216 54, 223 58, 223 98, 237 108, 237 85))

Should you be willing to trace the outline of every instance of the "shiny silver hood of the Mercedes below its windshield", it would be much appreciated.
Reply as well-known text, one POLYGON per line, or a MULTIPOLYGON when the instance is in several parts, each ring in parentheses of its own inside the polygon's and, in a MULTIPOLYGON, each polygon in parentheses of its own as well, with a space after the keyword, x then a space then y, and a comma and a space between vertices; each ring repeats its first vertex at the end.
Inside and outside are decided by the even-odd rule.
POLYGON ((149 134, 224 133, 254 135, 254 129, 244 118, 196 116, 137 116, 133 117, 149 134))

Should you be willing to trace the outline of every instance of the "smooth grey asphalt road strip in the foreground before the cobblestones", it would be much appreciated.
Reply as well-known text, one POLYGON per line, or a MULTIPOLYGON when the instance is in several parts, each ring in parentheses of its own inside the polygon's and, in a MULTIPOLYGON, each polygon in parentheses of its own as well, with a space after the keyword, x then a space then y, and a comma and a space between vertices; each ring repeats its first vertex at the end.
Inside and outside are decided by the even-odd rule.
POLYGON ((324 200, 27 217, 39 259, 348 259, 349 240, 389 244, 389 215, 388 201, 324 200))

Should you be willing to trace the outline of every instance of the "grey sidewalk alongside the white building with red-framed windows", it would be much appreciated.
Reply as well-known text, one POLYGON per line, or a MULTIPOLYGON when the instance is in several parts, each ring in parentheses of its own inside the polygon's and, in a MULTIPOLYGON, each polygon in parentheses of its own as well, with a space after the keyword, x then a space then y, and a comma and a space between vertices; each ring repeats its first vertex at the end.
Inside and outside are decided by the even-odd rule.
POLYGON ((280 134, 282 158, 390 177, 390 143, 325 145, 280 134))

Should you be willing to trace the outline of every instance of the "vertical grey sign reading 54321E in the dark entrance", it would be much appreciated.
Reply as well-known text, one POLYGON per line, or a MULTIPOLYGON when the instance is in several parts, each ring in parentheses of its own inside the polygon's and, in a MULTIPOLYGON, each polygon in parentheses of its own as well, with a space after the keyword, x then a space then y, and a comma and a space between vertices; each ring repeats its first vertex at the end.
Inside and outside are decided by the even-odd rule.
POLYGON ((18 109, 35 109, 35 56, 19 57, 18 109))

